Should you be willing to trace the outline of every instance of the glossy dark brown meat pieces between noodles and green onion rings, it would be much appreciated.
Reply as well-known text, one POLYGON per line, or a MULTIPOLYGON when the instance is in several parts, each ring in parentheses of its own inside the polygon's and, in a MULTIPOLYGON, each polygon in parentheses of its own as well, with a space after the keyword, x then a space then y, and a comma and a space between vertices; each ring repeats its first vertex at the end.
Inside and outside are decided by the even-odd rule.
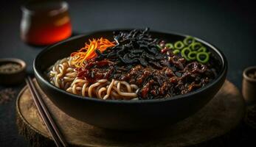
MULTIPOLYGON (((207 77, 207 69, 202 70, 200 65, 186 65, 184 70, 176 71, 176 75, 171 68, 165 67, 161 70, 155 68, 144 68, 142 65, 136 65, 126 73, 114 75, 114 79, 125 80, 131 84, 141 87, 139 90, 140 99, 165 98, 179 94, 189 93, 210 82, 207 77)), ((214 76, 211 77, 212 79, 214 76)))

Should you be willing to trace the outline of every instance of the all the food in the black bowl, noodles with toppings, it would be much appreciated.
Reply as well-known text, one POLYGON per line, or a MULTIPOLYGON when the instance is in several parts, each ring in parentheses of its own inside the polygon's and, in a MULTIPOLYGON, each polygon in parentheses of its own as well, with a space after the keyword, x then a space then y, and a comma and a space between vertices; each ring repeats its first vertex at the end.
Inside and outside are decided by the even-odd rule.
MULTIPOLYGON (((86 41, 86 40, 85 40, 86 41)), ((145 100, 190 93, 217 76, 215 59, 193 37, 162 40, 148 29, 91 38, 46 75, 60 89, 101 99, 145 100)))

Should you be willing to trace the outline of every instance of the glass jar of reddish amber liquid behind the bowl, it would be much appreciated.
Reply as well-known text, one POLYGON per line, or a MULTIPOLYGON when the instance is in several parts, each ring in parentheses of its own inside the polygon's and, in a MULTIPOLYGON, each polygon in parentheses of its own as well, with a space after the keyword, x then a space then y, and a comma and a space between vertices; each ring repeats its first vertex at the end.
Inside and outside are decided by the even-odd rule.
POLYGON ((50 45, 70 37, 72 26, 65 1, 33 1, 21 7, 21 39, 50 45))

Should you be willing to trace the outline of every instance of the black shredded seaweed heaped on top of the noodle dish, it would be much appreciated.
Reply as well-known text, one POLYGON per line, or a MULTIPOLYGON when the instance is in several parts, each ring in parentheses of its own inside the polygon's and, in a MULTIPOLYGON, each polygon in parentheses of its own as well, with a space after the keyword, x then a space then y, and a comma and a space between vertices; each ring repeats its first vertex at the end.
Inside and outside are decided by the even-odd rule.
POLYGON ((108 59, 122 65, 151 65, 162 68, 159 60, 166 56, 156 46, 157 39, 149 35, 149 29, 134 29, 131 32, 115 33, 114 40, 117 45, 106 49, 103 53, 97 51, 97 60, 108 59))

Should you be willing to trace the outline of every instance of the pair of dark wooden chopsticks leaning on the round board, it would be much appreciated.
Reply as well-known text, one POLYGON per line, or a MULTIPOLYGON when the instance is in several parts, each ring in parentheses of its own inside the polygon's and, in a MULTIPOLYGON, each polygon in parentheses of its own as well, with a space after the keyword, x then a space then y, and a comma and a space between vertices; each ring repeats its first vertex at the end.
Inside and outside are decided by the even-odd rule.
POLYGON ((30 78, 30 76, 27 76, 25 80, 27 82, 27 86, 30 89, 30 93, 32 94, 35 106, 38 108, 38 112, 41 115, 41 118, 43 119, 46 128, 52 136, 52 139, 54 140, 56 146, 68 146, 66 140, 64 140, 63 135, 61 135, 57 125, 53 121, 52 116, 49 114, 49 111, 44 104, 44 101, 42 100, 40 94, 38 93, 38 90, 36 89, 34 83, 32 82, 32 79, 30 78))

